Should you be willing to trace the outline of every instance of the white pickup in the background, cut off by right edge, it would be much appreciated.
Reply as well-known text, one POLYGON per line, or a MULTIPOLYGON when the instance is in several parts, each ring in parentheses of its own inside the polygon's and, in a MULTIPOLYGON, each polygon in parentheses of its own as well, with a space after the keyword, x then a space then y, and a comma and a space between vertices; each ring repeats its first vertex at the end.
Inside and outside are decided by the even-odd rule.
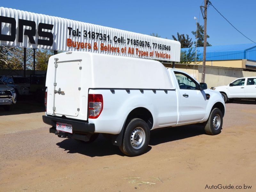
POLYGON ((228 85, 212 87, 212 89, 222 94, 225 103, 233 99, 256 100, 256 77, 242 77, 228 85))

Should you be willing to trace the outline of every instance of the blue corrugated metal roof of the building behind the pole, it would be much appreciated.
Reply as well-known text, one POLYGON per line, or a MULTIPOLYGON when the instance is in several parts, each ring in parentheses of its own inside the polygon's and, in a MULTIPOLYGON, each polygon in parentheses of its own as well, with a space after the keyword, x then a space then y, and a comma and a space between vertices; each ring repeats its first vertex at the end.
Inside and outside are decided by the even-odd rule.
MULTIPOLYGON (((182 48, 181 51, 188 51, 182 48)), ((197 47, 199 60, 203 60, 203 47, 197 47)), ((206 60, 256 60, 256 44, 218 45, 206 47, 206 60)))

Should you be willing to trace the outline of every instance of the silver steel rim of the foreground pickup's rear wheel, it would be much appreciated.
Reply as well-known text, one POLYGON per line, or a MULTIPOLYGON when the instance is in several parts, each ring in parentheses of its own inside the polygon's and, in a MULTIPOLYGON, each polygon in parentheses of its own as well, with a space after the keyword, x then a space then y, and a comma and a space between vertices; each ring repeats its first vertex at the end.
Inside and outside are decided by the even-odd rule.
POLYGON ((131 145, 135 149, 139 149, 145 143, 145 131, 141 127, 136 127, 131 133, 131 145))

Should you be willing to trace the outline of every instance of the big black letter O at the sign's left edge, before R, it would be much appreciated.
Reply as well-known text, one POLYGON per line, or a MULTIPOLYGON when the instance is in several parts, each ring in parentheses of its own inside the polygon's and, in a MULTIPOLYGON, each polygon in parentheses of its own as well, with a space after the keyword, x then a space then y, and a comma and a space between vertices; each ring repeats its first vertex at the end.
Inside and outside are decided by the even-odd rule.
POLYGON ((0 41, 15 41, 16 39, 16 20, 11 17, 0 16, 0 41), (11 35, 2 34, 2 23, 11 24, 11 35))

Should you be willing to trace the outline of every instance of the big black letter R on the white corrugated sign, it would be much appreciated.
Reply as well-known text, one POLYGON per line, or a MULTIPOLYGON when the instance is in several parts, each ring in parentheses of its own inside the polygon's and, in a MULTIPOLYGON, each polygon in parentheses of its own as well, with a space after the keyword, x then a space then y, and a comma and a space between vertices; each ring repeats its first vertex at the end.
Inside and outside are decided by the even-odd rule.
POLYGON ((19 19, 19 38, 18 41, 20 43, 23 42, 23 26, 29 26, 31 29, 25 29, 24 35, 28 36, 29 42, 31 44, 36 44, 33 36, 36 35, 36 22, 35 21, 28 21, 28 20, 23 20, 19 19))

